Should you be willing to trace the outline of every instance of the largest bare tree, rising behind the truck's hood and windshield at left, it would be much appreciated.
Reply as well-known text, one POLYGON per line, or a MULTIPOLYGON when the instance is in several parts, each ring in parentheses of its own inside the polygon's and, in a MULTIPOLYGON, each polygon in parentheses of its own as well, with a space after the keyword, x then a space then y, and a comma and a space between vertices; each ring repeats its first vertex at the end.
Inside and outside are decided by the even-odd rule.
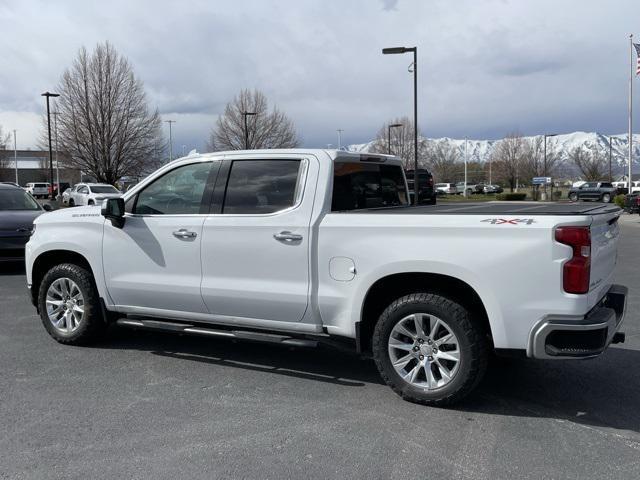
POLYGON ((58 142, 70 165, 100 182, 144 174, 161 163, 161 121, 147 105, 142 81, 107 43, 83 47, 62 75, 58 142))

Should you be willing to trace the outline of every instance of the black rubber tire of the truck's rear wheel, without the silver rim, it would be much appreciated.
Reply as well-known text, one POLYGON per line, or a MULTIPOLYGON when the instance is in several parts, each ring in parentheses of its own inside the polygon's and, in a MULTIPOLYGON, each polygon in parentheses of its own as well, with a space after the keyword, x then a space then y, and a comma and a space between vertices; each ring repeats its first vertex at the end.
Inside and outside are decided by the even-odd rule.
POLYGON ((451 405, 471 393, 485 374, 489 352, 486 334, 473 322, 471 313, 459 303, 431 293, 406 295, 389 305, 376 324, 372 347, 378 371, 394 392, 407 401, 432 406, 451 405), (394 326, 412 313, 439 317, 458 338, 460 365, 451 381, 442 387, 416 387, 403 380, 391 363, 389 336, 394 326))

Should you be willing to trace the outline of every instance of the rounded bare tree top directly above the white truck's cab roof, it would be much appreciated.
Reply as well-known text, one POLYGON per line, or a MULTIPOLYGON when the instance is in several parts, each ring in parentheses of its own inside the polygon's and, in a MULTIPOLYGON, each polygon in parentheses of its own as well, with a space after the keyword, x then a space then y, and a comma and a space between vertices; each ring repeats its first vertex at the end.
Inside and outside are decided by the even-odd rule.
POLYGON ((259 90, 242 90, 229 102, 209 137, 212 150, 294 148, 299 144, 293 122, 277 107, 269 112, 267 97, 259 90), (245 136, 247 112, 255 115, 246 116, 245 136))

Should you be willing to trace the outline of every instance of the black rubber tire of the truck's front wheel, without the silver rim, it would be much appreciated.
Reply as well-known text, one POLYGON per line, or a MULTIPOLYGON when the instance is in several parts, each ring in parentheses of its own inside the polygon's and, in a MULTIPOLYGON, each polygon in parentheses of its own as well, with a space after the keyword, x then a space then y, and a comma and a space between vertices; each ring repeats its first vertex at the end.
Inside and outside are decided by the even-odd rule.
POLYGON ((73 263, 55 265, 45 274, 38 290, 38 308, 44 328, 49 335, 60 343, 86 345, 99 338, 106 328, 93 275, 86 268, 73 263), (56 329, 49 321, 47 314, 47 290, 59 278, 69 278, 75 282, 84 298, 84 315, 77 329, 71 333, 62 333, 56 329))

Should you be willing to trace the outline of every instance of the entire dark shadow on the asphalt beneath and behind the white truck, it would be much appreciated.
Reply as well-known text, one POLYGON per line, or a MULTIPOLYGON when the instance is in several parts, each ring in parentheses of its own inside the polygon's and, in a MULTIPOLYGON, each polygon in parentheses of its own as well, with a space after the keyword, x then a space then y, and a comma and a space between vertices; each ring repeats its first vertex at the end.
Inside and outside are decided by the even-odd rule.
MULTIPOLYGON (((120 328, 113 329, 109 341, 100 347, 143 350, 178 361, 262 371, 342 387, 383 385, 373 361, 324 348, 120 328)), ((617 347, 600 358, 584 361, 496 359, 478 390, 450 411, 555 418, 588 427, 640 433, 639 365, 640 351, 617 347)))

